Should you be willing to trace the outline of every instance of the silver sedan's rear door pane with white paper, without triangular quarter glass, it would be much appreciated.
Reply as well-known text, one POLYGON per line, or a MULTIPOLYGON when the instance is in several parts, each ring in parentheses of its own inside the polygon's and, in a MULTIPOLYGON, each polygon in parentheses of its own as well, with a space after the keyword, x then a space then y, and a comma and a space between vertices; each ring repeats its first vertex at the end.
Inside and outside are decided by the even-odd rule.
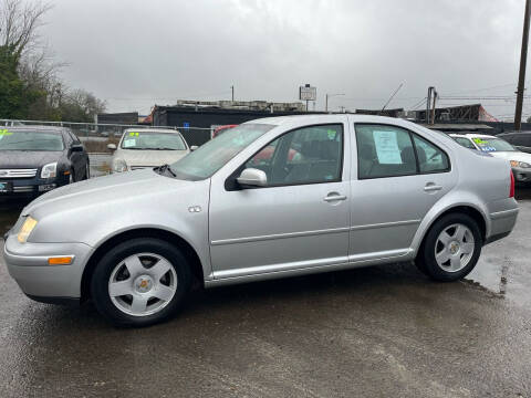
POLYGON ((355 129, 361 179, 416 174, 409 132, 383 125, 356 125, 355 129))

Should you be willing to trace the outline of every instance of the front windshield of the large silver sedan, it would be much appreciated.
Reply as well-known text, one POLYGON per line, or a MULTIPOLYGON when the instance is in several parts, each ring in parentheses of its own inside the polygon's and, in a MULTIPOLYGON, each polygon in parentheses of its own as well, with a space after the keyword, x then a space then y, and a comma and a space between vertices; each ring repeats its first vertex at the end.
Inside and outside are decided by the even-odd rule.
POLYGON ((273 127, 264 124, 243 124, 230 128, 173 164, 171 171, 179 179, 195 181, 209 178, 249 144, 273 127))

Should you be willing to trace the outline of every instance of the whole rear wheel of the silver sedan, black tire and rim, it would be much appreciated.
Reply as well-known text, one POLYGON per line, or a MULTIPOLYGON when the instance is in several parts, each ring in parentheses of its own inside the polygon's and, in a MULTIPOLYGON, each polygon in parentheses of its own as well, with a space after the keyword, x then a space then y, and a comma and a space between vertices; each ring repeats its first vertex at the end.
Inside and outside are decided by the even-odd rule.
POLYGON ((431 226, 415 263, 435 281, 458 281, 473 270, 481 247, 477 222, 465 213, 449 213, 431 226))

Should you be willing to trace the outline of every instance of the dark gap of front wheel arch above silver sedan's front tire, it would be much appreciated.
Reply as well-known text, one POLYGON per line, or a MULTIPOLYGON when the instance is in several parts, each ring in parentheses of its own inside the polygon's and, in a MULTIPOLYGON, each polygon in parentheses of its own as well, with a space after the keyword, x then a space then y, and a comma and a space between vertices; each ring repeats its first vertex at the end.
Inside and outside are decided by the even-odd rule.
POLYGON ((188 243, 183 237, 178 234, 158 228, 137 228, 126 231, 122 231, 107 240, 103 241, 92 253, 88 261, 85 264, 83 274, 81 277, 81 300, 86 301, 91 295, 91 276, 103 255, 114 245, 123 242, 124 240, 134 238, 156 238, 164 240, 183 251, 183 254, 187 258, 191 265, 192 275, 199 281, 201 285, 205 283, 205 274, 201 261, 194 247, 188 243))

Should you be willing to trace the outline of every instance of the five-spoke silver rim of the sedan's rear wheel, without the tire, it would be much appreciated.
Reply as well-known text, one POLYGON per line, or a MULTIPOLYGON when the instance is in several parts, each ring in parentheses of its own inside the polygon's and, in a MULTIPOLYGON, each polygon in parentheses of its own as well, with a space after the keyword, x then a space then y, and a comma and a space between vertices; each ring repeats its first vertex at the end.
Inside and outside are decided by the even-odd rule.
POLYGON ((435 260, 447 272, 462 270, 470 262, 475 251, 472 231, 461 223, 445 228, 435 243, 435 260))

